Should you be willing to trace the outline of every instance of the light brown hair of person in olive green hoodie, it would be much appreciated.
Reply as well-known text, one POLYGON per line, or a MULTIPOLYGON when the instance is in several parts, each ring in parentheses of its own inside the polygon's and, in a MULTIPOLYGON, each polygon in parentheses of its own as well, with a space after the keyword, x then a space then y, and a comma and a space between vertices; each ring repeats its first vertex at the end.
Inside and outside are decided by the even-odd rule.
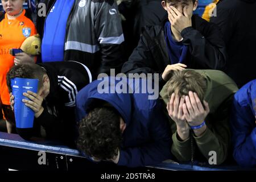
POLYGON ((167 83, 168 97, 172 93, 179 94, 180 97, 188 96, 188 92, 196 92, 200 100, 204 100, 204 94, 207 90, 207 82, 200 74, 192 70, 175 71, 167 83))

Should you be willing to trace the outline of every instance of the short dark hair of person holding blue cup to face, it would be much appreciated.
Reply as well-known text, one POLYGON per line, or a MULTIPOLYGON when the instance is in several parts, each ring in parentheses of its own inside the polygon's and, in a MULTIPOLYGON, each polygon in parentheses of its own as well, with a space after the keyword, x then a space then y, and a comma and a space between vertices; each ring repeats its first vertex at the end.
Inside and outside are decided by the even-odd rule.
POLYGON ((35 63, 23 63, 15 65, 6 75, 9 92, 12 92, 11 79, 13 78, 38 79, 38 89, 40 89, 43 86, 43 76, 45 74, 46 70, 35 63))

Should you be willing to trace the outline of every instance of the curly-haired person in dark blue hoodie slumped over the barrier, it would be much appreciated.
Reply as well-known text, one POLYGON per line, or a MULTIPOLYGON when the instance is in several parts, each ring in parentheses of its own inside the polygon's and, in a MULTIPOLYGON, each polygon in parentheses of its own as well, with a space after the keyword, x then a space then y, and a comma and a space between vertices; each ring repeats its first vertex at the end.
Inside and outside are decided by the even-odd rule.
POLYGON ((109 160, 127 167, 170 159, 171 133, 162 102, 138 92, 138 84, 144 79, 118 80, 96 80, 77 94, 78 148, 93 160, 109 160), (102 93, 102 85, 115 93, 102 93), (118 85, 126 93, 120 93, 118 85))

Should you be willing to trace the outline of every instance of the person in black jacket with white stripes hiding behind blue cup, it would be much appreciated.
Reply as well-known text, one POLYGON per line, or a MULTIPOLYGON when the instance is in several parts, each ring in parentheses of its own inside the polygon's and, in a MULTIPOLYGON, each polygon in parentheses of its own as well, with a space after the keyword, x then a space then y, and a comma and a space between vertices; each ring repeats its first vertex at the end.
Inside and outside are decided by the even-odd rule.
MULTIPOLYGON (((38 93, 23 93, 27 107, 35 112, 34 130, 17 130, 24 139, 33 136, 46 137, 75 146, 77 127, 75 122, 76 93, 92 81, 85 65, 75 61, 15 65, 7 73, 7 85, 11 90, 13 78, 35 78, 39 80, 38 93), (36 129, 40 129, 36 130, 36 129)), ((11 93, 11 107, 14 109, 14 96, 11 93)))

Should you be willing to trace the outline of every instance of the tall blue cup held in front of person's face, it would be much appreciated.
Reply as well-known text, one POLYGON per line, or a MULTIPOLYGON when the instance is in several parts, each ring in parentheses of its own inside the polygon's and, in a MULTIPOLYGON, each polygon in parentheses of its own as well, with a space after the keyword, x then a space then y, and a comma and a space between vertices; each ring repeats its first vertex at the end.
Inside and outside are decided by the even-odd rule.
POLYGON ((11 89, 14 95, 14 115, 16 130, 20 137, 29 139, 32 137, 35 113, 26 106, 22 100, 29 100, 23 93, 31 91, 38 92, 38 79, 13 78, 11 79, 11 89))

